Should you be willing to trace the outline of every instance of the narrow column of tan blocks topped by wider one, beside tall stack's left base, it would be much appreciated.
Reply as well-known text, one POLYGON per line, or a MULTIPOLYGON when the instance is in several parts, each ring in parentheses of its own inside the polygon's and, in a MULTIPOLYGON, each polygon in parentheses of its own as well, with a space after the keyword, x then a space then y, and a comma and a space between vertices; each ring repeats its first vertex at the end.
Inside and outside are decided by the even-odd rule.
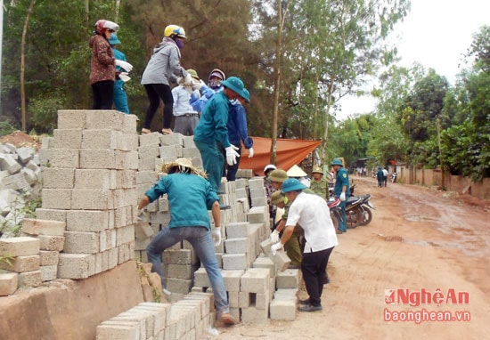
POLYGON ((39 246, 39 271, 43 282, 57 278, 60 252, 64 247, 66 223, 61 221, 24 218, 22 235, 37 238, 39 246))

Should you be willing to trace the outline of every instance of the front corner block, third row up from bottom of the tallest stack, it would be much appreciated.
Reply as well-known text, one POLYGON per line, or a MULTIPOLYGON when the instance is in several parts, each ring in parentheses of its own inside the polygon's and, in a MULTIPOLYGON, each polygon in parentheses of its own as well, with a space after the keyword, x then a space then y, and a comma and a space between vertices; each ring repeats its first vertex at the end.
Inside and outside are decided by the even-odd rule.
POLYGON ((66 221, 67 231, 104 231, 113 225, 107 210, 69 210, 66 221))

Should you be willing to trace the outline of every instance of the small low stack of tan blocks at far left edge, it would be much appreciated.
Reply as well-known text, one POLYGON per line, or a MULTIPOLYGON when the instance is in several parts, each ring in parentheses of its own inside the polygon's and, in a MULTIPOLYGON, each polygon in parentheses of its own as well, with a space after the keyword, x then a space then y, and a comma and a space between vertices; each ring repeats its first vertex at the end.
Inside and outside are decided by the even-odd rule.
POLYGON ((0 239, 0 296, 13 294, 18 287, 37 287, 42 283, 39 270, 40 240, 30 237, 0 239))

